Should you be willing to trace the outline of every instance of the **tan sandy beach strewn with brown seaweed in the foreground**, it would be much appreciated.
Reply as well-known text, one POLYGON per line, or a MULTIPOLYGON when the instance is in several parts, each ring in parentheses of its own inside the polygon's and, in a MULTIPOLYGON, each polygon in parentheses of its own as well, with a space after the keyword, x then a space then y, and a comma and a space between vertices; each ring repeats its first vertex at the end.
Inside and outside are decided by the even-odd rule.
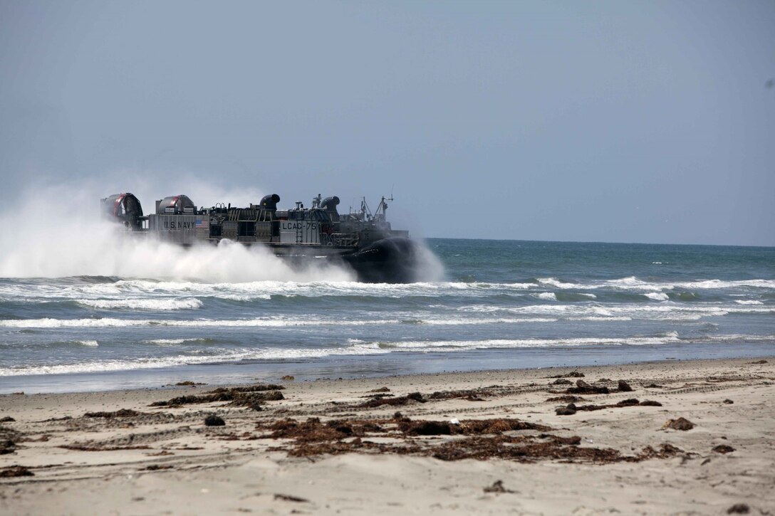
POLYGON ((5 395, 0 513, 775 514, 775 359, 575 371, 5 395))

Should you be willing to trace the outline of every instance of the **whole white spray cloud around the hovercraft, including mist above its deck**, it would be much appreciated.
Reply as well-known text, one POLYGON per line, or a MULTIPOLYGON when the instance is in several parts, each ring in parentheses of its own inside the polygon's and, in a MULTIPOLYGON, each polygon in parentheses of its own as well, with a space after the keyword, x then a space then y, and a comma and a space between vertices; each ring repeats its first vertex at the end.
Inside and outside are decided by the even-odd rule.
MULTIPOLYGON (((146 181, 142 178, 126 182, 137 183, 139 191, 145 191, 146 181)), ((185 191, 174 193, 203 193, 203 181, 184 184, 188 186, 185 191)), ((94 182, 77 187, 29 188, 0 213, 6 228, 0 234, 0 277, 88 275, 217 282, 353 280, 353 273, 329 263, 291 268, 262 246, 248 248, 223 242, 219 246, 202 244, 184 249, 144 235, 125 233, 119 225, 100 219, 98 204, 100 198, 120 190, 106 191, 94 182)), ((170 193, 157 198, 167 194, 170 193)), ((253 202, 260 199, 258 190, 249 189, 233 197, 222 189, 214 190, 214 194, 227 199, 256 197, 253 202)), ((197 202, 193 195, 190 197, 197 202)), ((153 210, 153 197, 140 201, 145 201, 146 213, 153 210)))

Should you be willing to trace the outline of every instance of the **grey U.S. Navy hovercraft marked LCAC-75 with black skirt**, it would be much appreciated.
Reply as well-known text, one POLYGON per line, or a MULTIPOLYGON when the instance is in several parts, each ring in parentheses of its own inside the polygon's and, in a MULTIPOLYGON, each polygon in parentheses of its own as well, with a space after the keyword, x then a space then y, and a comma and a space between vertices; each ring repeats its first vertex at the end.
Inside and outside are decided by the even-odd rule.
MULTIPOLYGON (((392 199, 391 199, 392 200, 392 199)), ((312 200, 312 208, 279 210, 280 196, 270 194, 258 205, 198 208, 186 195, 156 201, 156 212, 143 215, 133 194, 115 194, 101 200, 102 214, 120 222, 126 232, 180 246, 222 240, 246 246, 266 246, 291 263, 327 260, 352 268, 359 280, 370 283, 408 283, 415 280, 418 249, 408 231, 391 229, 385 218, 387 199, 372 215, 361 202, 360 212, 339 215, 336 196, 312 200)))

